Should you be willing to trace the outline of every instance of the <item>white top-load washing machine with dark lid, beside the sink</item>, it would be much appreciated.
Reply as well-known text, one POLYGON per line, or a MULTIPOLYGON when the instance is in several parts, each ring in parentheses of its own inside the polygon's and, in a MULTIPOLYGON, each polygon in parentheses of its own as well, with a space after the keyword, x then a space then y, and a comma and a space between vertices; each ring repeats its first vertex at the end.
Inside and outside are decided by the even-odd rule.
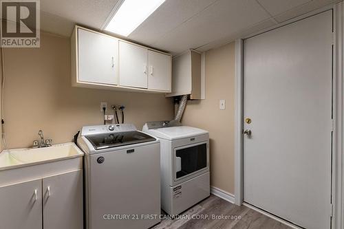
POLYGON ((83 127, 87 229, 142 229, 160 221, 160 141, 133 124, 83 127), (147 217, 149 216, 149 217, 147 217))

